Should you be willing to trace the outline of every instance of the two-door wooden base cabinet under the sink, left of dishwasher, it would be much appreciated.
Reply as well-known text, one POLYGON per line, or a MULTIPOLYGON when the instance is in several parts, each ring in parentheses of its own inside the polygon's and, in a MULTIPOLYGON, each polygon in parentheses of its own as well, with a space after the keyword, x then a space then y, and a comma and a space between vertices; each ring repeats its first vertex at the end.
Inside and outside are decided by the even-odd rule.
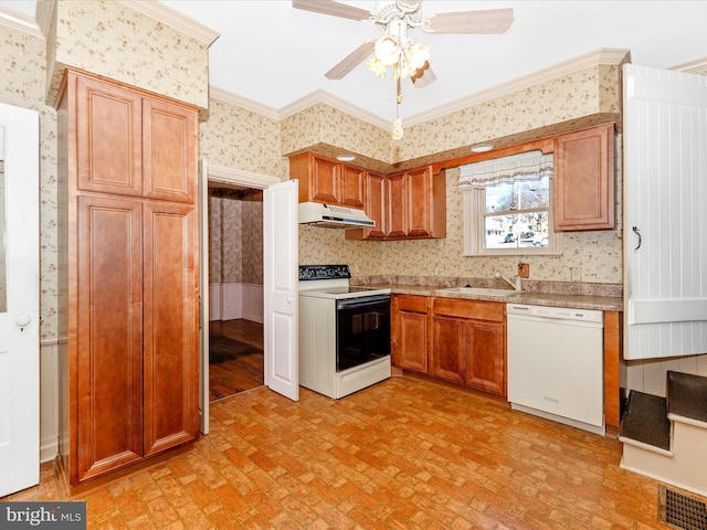
POLYGON ((430 375, 506 395, 505 305, 433 298, 430 375))

